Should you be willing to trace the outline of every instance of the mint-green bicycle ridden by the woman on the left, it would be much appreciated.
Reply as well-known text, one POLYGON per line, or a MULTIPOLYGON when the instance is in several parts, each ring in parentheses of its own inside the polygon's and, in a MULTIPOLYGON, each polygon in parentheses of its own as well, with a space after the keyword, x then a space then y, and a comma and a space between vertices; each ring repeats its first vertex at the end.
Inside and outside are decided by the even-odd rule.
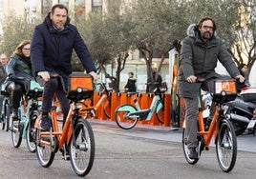
POLYGON ((18 109, 18 120, 11 122, 11 141, 14 148, 19 148, 22 139, 26 139, 27 147, 31 152, 35 151, 34 123, 39 115, 40 100, 43 88, 31 80, 26 93, 22 96, 18 109))

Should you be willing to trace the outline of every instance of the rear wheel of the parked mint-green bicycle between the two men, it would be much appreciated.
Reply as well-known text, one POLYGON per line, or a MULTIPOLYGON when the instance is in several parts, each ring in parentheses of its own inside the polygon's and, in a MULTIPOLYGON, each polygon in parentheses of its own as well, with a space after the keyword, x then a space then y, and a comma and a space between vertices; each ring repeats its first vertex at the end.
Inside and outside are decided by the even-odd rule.
POLYGON ((132 105, 121 105, 116 109, 116 123, 121 129, 132 129, 138 123, 137 115, 129 115, 130 112, 135 112, 137 109, 132 105), (128 116, 129 115, 129 116, 128 116))

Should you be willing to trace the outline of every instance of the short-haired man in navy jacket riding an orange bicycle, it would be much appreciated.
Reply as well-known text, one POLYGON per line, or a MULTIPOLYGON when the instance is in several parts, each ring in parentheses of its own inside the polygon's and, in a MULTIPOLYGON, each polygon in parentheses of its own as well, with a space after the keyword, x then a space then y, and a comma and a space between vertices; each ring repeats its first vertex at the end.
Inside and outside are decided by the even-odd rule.
POLYGON ((50 73, 57 73, 68 87, 68 76, 72 73, 71 57, 75 50, 85 70, 94 79, 98 78, 92 56, 78 30, 70 24, 68 9, 60 4, 54 5, 44 22, 35 27, 32 34, 31 48, 32 70, 38 82, 44 86, 41 128, 49 130, 53 95, 56 94, 64 114, 63 123, 69 112, 69 100, 56 78, 50 73))

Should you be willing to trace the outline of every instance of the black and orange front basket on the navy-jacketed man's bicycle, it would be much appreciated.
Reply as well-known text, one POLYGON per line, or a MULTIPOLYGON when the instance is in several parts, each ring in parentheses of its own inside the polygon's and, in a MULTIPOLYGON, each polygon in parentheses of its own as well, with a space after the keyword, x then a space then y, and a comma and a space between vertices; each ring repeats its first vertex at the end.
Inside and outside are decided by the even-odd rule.
POLYGON ((87 99, 94 95, 93 76, 74 72, 69 76, 67 98, 71 100, 87 99))

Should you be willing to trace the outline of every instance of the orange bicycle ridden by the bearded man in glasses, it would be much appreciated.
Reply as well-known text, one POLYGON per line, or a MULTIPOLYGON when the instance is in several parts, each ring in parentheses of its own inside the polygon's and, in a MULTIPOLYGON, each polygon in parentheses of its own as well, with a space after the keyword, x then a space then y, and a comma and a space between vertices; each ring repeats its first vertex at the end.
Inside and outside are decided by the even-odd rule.
MULTIPOLYGON (((200 80, 203 82, 204 80, 200 80)), ((198 153, 196 159, 189 158, 187 148, 185 120, 183 123, 182 149, 186 161, 189 164, 196 164, 203 149, 208 150, 211 139, 214 135, 218 163, 224 172, 232 170, 237 157, 237 138, 232 123, 224 115, 224 103, 234 100, 236 97, 236 85, 233 80, 215 81, 215 91, 212 93, 213 101, 216 102, 216 110, 209 129, 204 130, 203 109, 199 97, 199 119, 198 119, 198 153)))

